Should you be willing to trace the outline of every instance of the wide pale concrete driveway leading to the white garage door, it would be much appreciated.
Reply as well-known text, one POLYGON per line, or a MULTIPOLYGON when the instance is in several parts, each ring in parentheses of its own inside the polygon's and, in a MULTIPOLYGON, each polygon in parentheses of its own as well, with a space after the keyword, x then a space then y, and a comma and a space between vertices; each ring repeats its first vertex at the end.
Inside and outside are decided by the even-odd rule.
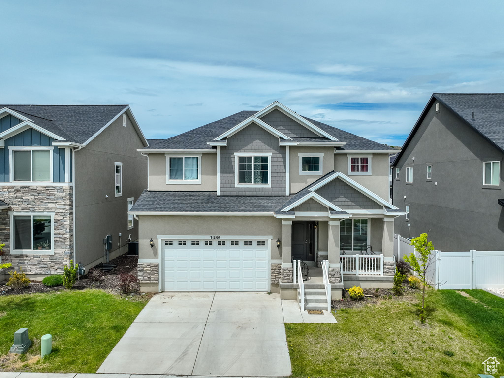
POLYGON ((154 296, 99 373, 288 376, 280 296, 165 292, 154 296))

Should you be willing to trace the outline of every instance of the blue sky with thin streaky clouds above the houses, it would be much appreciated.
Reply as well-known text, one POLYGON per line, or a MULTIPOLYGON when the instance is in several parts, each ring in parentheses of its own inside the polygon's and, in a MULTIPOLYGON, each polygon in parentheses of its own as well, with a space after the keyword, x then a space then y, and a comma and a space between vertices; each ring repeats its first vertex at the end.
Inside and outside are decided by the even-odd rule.
POLYGON ((504 92, 501 1, 0 5, 0 103, 128 103, 148 138, 279 100, 401 145, 432 92, 504 92))

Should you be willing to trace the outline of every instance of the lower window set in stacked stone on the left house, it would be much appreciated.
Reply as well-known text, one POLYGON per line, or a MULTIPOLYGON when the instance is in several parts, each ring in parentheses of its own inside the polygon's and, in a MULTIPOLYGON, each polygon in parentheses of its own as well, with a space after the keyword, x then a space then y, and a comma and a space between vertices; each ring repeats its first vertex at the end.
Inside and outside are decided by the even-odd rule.
POLYGON ((11 227, 15 251, 52 251, 51 215, 13 215, 11 227))

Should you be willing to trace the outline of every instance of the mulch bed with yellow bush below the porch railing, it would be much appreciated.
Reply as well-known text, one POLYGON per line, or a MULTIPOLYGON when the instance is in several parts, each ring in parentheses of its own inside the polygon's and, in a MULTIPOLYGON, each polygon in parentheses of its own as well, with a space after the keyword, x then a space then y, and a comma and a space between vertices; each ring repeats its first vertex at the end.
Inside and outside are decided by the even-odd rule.
POLYGON ((420 289, 412 289, 408 284, 403 284, 403 290, 403 295, 396 296, 392 293, 392 289, 362 289, 364 298, 356 301, 350 298, 348 290, 345 289, 343 290, 343 299, 332 300, 331 308, 339 310, 342 308, 362 307, 379 304, 384 299, 411 301, 416 300, 415 294, 420 292, 420 289))

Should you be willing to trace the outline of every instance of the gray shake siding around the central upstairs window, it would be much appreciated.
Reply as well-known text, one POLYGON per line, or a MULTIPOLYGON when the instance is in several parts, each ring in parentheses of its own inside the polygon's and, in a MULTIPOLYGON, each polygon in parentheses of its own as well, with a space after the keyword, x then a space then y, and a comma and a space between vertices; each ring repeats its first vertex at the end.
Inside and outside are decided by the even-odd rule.
POLYGON ((221 195, 285 195, 285 154, 286 148, 278 145, 278 137, 262 127, 251 124, 229 137, 227 147, 221 147, 220 161, 220 194, 221 195), (235 153, 271 153, 271 188, 257 188, 254 185, 246 188, 235 187, 235 153))

